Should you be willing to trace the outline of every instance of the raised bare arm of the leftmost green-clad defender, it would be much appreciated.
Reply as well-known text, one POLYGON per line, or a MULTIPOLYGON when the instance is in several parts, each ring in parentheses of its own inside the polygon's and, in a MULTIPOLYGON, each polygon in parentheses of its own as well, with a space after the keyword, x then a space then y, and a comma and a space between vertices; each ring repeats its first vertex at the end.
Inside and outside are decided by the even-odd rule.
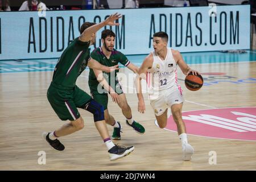
POLYGON ((118 26, 119 23, 115 23, 115 20, 117 20, 121 17, 122 17, 122 15, 118 14, 118 13, 110 15, 103 22, 94 24, 93 26, 90 26, 90 27, 86 28, 84 30, 84 32, 82 32, 82 34, 80 35, 79 39, 82 42, 88 42, 90 40, 92 34, 97 32, 98 30, 100 30, 102 27, 105 27, 107 25, 109 25, 109 26, 116 26, 117 25, 118 26))

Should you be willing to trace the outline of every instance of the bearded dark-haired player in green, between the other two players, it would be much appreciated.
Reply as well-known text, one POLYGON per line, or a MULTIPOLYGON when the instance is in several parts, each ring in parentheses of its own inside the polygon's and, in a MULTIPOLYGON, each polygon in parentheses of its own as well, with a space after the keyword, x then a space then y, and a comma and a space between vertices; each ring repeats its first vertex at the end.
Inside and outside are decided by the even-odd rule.
MULTIPOLYGON (((94 49, 90 56, 97 60, 100 64, 108 67, 113 67, 121 63, 125 67, 129 68, 134 73, 138 73, 139 68, 127 59, 123 53, 114 49, 115 45, 115 34, 112 30, 104 30, 101 32, 102 46, 94 49)), ((104 71, 103 71, 104 72, 104 71)), ((117 72, 102 74, 101 70, 90 68, 89 73, 89 87, 90 92, 94 100, 104 106, 105 121, 109 125, 114 127, 112 139, 121 139, 122 126, 120 122, 115 121, 112 115, 109 114, 108 110, 108 93, 112 97, 112 100, 118 104, 122 109, 123 115, 126 117, 126 124, 133 127, 139 134, 143 134, 145 129, 138 122, 135 122, 131 115, 131 108, 127 103, 125 93, 122 91, 122 87, 117 78, 117 72), (102 87, 103 86, 103 87, 102 87), (104 90, 105 88, 105 90, 104 90), (101 91, 104 91, 103 93, 101 91)))

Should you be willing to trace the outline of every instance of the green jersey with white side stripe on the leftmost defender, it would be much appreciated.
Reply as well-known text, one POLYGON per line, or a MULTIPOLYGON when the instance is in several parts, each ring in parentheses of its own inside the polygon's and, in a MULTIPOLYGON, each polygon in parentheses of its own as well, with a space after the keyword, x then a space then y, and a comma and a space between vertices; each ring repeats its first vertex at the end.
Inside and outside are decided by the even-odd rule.
POLYGON ((54 69, 52 81, 60 86, 74 87, 76 79, 90 60, 90 42, 73 40, 60 56, 54 69))

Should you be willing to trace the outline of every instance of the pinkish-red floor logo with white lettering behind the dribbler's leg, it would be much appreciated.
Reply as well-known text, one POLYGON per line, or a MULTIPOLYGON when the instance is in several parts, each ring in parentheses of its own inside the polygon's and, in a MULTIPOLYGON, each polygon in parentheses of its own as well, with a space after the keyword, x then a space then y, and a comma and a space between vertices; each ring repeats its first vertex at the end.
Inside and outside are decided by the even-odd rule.
MULTIPOLYGON (((256 141, 256 107, 234 107, 185 111, 182 113, 187 133, 210 138, 256 141)), ((172 116, 167 130, 177 131, 172 116)))

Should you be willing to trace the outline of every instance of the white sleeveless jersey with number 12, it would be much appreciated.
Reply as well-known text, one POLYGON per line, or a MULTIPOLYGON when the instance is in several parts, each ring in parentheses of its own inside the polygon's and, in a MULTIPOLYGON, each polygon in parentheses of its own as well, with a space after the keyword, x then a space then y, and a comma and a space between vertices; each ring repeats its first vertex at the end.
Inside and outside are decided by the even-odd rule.
MULTIPOLYGON (((161 60, 155 51, 152 52, 154 61, 152 68, 148 69, 147 85, 149 88, 149 96, 158 95, 159 91, 179 88, 177 83, 177 64, 172 56, 171 48, 167 48, 167 55, 165 60, 161 60)), ((152 99, 152 98, 151 98, 152 99)))

